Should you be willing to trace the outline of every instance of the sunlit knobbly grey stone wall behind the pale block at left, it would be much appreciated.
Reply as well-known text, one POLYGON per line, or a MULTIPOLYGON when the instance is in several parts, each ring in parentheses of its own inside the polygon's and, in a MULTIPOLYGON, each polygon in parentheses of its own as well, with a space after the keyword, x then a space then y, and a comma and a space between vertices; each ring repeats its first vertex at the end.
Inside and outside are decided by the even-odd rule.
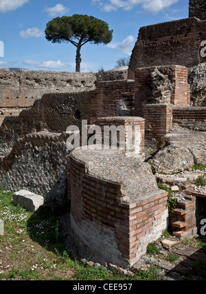
POLYGON ((67 198, 65 134, 40 132, 16 140, 8 156, 0 158, 0 183, 5 189, 26 189, 46 199, 67 198))

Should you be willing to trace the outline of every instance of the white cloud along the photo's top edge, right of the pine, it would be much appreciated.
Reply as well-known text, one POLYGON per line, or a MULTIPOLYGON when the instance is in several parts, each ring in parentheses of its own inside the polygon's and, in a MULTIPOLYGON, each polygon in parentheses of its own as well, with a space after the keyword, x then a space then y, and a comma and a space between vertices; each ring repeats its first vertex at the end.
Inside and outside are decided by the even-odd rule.
POLYGON ((165 8, 169 8, 174 3, 179 0, 108 0, 108 3, 102 3, 98 0, 92 0, 92 3, 99 3, 102 10, 106 12, 111 12, 112 10, 117 10, 122 8, 124 10, 131 10, 136 6, 140 5, 144 11, 157 14, 165 8))

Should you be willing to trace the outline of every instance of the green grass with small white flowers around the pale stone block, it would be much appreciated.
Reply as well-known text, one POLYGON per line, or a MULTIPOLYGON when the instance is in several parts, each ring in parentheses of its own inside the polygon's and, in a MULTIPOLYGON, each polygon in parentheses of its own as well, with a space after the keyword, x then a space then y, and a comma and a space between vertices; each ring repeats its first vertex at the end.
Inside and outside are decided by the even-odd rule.
MULTIPOLYGON (((0 189, 0 280, 154 280, 152 272, 136 270, 124 275, 106 267, 89 267, 65 250, 60 234, 61 214, 49 203, 36 212, 14 206, 12 193, 0 189)), ((65 204, 69 209, 69 204, 65 204)), ((69 210, 61 213, 65 214, 69 210)))

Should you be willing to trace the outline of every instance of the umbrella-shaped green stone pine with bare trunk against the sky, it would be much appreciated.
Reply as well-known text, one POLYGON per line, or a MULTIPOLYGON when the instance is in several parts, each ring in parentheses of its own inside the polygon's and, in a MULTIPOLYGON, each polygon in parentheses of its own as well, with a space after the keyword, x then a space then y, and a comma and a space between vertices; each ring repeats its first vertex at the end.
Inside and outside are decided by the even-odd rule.
POLYGON ((76 71, 80 71, 80 50, 87 42, 94 44, 111 42, 113 30, 108 24, 93 16, 73 14, 73 16, 56 17, 47 23, 45 37, 53 43, 71 42, 76 46, 76 71))

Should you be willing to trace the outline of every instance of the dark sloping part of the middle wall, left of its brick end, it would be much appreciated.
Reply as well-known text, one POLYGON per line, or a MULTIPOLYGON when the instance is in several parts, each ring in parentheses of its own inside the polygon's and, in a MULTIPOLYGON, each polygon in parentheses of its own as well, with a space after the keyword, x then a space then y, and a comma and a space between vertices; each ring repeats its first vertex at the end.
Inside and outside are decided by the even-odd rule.
POLYGON ((1 125, 1 132, 66 132, 69 125, 81 127, 82 119, 89 120, 94 96, 93 91, 45 94, 32 107, 22 110, 18 117, 6 117, 1 125))

